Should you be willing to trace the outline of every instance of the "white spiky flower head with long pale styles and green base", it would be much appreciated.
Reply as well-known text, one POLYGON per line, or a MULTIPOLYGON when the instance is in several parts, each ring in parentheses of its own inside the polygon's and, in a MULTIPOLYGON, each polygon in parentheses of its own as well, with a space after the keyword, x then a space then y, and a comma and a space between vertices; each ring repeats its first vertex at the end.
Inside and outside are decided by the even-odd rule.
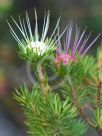
POLYGON ((53 51, 56 49, 56 43, 59 41, 61 36, 66 31, 67 27, 64 29, 64 31, 61 33, 61 35, 58 37, 57 28, 59 27, 60 17, 58 18, 57 24, 49 38, 47 38, 47 33, 49 29, 49 23, 50 23, 50 13, 48 11, 47 14, 44 16, 44 23, 43 23, 43 29, 42 29, 42 35, 39 37, 38 32, 38 19, 37 19, 37 13, 35 10, 35 30, 34 35, 32 33, 31 24, 29 20, 28 13, 26 12, 26 22, 21 20, 19 17, 19 24, 14 20, 13 17, 11 17, 17 28, 19 29, 21 35, 23 38, 19 38, 17 34, 15 33, 14 29, 11 27, 10 23, 7 21, 11 34, 15 38, 15 40, 18 42, 21 50, 25 54, 27 54, 27 51, 31 49, 33 53, 35 53, 37 56, 43 56, 49 51, 53 51), (57 38, 58 37, 58 38, 57 38), (57 38, 57 39, 56 39, 57 38))

